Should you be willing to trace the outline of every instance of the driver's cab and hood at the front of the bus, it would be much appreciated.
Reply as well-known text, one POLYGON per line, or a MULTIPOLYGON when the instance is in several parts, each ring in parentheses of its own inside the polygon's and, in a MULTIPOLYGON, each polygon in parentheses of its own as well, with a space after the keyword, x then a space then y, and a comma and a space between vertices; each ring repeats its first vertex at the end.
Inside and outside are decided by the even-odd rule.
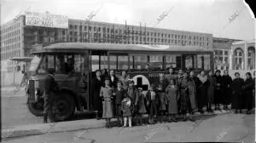
POLYGON ((29 82, 29 95, 35 97, 32 100, 37 100, 38 96, 43 95, 47 69, 53 68, 58 89, 65 89, 69 94, 73 94, 78 108, 84 106, 84 109, 89 109, 89 104, 84 102, 88 97, 89 89, 81 89, 82 75, 84 87, 89 87, 87 85, 89 83, 89 56, 87 53, 36 54, 29 68, 29 72, 34 75, 29 82))

